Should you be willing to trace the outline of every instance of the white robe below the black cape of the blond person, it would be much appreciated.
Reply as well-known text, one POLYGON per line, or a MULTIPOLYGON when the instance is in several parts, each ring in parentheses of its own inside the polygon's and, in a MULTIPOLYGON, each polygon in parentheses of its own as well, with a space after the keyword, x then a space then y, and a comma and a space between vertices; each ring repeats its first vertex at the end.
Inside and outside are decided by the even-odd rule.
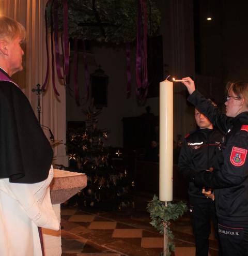
POLYGON ((39 183, 10 183, 0 179, 0 255, 42 256, 38 227, 59 230, 48 178, 39 183))

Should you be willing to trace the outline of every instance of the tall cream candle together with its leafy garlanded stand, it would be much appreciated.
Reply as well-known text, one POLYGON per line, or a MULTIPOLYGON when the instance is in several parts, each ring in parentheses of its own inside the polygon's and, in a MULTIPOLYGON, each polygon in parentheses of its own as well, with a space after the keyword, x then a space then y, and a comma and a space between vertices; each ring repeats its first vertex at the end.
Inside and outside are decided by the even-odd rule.
POLYGON ((159 85, 159 199, 154 195, 148 203, 153 227, 164 235, 163 256, 174 251, 173 234, 169 220, 178 219, 187 206, 173 201, 173 82, 166 80, 159 85))

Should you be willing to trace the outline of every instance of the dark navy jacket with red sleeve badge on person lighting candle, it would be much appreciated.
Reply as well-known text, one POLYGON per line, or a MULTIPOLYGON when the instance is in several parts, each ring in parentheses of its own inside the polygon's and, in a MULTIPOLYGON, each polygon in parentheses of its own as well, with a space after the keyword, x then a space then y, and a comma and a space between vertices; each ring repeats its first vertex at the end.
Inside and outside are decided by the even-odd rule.
POLYGON ((229 118, 197 91, 188 100, 226 133, 222 150, 224 163, 220 170, 200 172, 194 177, 194 182, 215 189, 218 218, 248 223, 248 112, 229 118))

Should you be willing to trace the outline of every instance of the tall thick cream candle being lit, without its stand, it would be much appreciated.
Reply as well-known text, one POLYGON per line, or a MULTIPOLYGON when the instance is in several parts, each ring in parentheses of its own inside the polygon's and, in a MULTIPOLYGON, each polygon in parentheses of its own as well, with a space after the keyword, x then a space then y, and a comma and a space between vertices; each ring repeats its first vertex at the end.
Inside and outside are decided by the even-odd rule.
POLYGON ((159 85, 159 200, 173 200, 173 82, 159 85))

